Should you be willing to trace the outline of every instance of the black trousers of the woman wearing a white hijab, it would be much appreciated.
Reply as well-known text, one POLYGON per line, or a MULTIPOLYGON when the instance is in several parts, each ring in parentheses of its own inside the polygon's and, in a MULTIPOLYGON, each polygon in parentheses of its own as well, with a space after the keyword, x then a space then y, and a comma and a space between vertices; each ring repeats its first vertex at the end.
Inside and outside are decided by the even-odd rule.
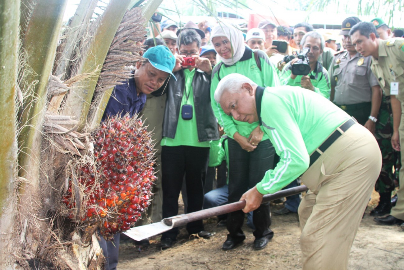
MULTIPOLYGON (((229 203, 240 200, 249 188, 259 183, 265 172, 273 169, 275 149, 269 139, 261 141, 252 152, 243 150, 234 139, 229 138, 229 203)), ((233 238, 241 238, 244 232, 241 227, 244 221, 242 210, 229 213, 227 216, 227 230, 233 238)), ((271 216, 269 203, 264 203, 254 210, 252 222, 256 228, 255 238, 273 235, 269 226, 271 216)))

